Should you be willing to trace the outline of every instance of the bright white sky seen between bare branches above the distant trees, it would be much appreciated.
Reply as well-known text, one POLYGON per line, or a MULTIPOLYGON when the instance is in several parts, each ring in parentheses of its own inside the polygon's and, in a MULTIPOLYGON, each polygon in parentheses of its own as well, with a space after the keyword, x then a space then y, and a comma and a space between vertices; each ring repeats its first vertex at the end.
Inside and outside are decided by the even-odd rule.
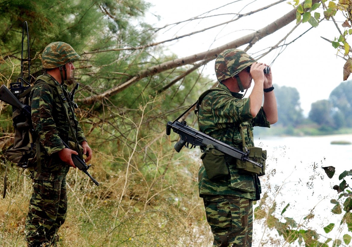
MULTIPOLYGON (((147 14, 146 17, 149 23, 157 27, 162 27, 165 24, 172 24, 177 21, 195 17, 196 15, 200 15, 231 2, 234 3, 227 5, 225 8, 220 8, 217 12, 211 12, 208 15, 215 13, 238 13, 244 7, 244 4, 252 2, 251 5, 241 11, 241 13, 247 13, 276 1, 277 0, 149 0, 154 7, 150 8, 150 13, 147 14), (152 14, 159 15, 161 17, 160 21, 153 17, 152 14)), ((190 56, 198 52, 216 48, 242 37, 245 34, 252 33, 254 30, 259 30, 272 23, 283 14, 288 13, 292 10, 292 6, 288 5, 287 2, 288 1, 285 1, 269 10, 243 17, 240 21, 234 21, 231 24, 213 28, 211 31, 202 34, 182 38, 177 42, 169 42, 166 43, 166 45, 168 45, 168 49, 177 54, 178 57, 190 56)), ((183 23, 171 28, 168 32, 160 33, 157 41, 201 30, 204 27, 231 20, 233 17, 233 14, 219 15, 216 18, 213 17, 193 21, 191 23, 183 23)), ((341 20, 339 17, 336 18, 341 20)), ((260 40, 248 53, 252 54, 270 45, 276 44, 294 27, 294 25, 295 22, 271 34, 268 38, 260 40)), ((301 24, 300 27, 294 31, 293 35, 288 38, 288 41, 291 41, 309 27, 310 24, 308 23, 301 24)), ((340 29, 343 31, 341 26, 340 29)), ((342 70, 345 60, 341 57, 337 57, 337 50, 334 49, 329 42, 320 38, 322 36, 333 40, 334 37, 338 35, 338 31, 332 21, 323 21, 318 27, 313 28, 308 33, 304 34, 303 37, 288 45, 287 49, 278 56, 271 67, 273 83, 279 86, 297 88, 300 93, 301 107, 306 116, 313 102, 328 99, 331 91, 342 82, 342 70)), ((240 49, 244 48, 245 46, 240 47, 240 49)), ((276 54, 272 52, 259 59, 259 61, 270 64, 275 55, 276 54)), ((253 57, 255 57, 255 55, 253 55, 253 57)), ((210 75, 211 78, 214 78, 214 81, 216 80, 214 75, 214 61, 208 64, 205 73, 210 75)), ((249 92, 247 92, 246 96, 248 95, 249 92)))

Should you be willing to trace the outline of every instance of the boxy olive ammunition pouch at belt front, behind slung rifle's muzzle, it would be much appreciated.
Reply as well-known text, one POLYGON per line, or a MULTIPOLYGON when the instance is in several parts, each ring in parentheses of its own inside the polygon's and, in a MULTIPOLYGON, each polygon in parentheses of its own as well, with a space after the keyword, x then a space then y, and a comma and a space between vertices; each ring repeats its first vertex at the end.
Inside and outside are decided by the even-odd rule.
POLYGON ((236 160, 235 167, 240 169, 240 172, 246 174, 257 174, 258 176, 263 176, 265 174, 265 160, 266 160, 266 150, 262 150, 260 147, 249 147, 249 159, 262 164, 263 167, 260 168, 248 161, 242 161, 240 159, 236 160))

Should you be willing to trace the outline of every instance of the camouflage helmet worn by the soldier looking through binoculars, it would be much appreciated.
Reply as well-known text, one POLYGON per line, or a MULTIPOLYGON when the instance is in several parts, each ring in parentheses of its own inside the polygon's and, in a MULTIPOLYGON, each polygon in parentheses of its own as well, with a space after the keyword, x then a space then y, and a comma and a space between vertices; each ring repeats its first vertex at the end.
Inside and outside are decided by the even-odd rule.
POLYGON ((237 75, 254 62, 257 61, 242 50, 224 50, 215 60, 215 74, 218 78, 218 82, 237 75))

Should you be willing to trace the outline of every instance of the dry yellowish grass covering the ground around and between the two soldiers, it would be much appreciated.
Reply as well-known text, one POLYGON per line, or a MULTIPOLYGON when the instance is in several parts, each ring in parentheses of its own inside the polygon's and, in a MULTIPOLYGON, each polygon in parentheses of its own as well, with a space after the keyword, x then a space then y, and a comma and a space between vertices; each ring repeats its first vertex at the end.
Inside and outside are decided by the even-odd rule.
MULTIPOLYGON (((165 165, 160 166, 163 172, 165 165)), ((90 169, 101 183, 99 187, 81 171, 70 170, 68 217, 59 230, 59 246, 209 245, 212 235, 197 193, 196 164, 187 173, 180 166, 169 165, 167 179, 149 179, 131 169, 127 183, 125 171, 113 174, 104 168, 93 165, 90 169)), ((31 180, 18 177, 15 166, 8 170, 7 195, 0 200, 0 246, 25 246, 31 180)))

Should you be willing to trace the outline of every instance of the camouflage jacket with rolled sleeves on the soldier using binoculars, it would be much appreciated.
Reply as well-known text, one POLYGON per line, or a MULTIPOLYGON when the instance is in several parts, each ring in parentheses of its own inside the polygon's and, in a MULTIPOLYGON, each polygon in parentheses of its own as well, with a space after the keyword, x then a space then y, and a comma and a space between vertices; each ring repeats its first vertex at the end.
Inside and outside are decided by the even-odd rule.
MULTIPOLYGON (((243 150, 243 141, 240 128, 243 130, 245 145, 254 146, 253 126, 270 127, 263 107, 253 118, 250 113, 250 99, 241 99, 241 94, 232 93, 224 84, 219 83, 219 89, 208 93, 202 100, 198 124, 201 132, 210 135, 228 145, 243 150)), ((240 196, 257 200, 260 198, 260 182, 258 176, 244 175, 228 164, 230 175, 224 179, 212 181, 208 179, 205 168, 199 169, 199 194, 207 195, 240 196)))

